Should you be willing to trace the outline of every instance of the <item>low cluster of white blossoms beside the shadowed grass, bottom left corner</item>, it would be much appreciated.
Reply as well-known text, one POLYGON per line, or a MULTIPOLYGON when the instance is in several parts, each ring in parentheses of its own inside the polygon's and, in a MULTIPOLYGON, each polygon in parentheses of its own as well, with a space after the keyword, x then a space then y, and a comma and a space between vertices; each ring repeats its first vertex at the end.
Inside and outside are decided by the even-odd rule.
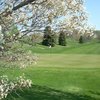
POLYGON ((6 98, 14 89, 28 88, 32 86, 32 81, 26 79, 24 75, 16 78, 15 81, 10 81, 7 76, 0 77, 0 100, 6 98))

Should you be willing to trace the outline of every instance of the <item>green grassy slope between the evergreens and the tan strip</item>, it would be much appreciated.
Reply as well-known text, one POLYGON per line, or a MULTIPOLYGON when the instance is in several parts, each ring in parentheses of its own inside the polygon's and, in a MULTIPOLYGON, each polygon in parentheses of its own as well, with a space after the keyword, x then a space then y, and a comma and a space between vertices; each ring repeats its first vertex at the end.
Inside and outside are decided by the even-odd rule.
POLYGON ((29 46, 24 45, 23 49, 31 50, 33 53, 41 54, 100 54, 100 43, 98 42, 87 42, 79 44, 77 41, 69 40, 67 46, 56 45, 53 48, 48 48, 47 46, 36 45, 29 46))

